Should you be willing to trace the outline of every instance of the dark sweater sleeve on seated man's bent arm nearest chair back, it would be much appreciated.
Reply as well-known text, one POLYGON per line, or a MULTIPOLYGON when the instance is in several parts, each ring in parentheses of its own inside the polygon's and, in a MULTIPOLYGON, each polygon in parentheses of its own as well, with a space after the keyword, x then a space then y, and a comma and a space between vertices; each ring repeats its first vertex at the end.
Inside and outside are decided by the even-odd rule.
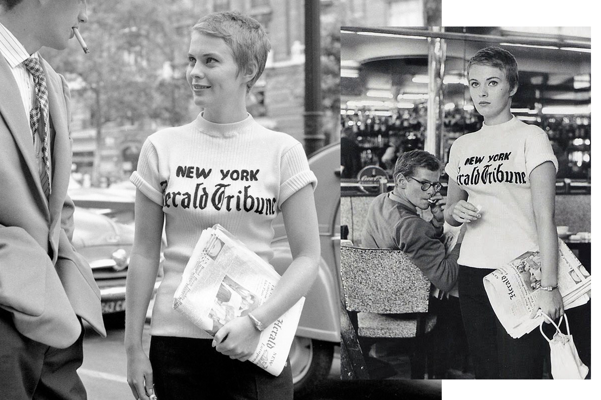
POLYGON ((445 254, 445 246, 436 230, 429 222, 415 216, 403 219, 395 227, 395 240, 398 248, 421 269, 437 288, 451 291, 457 282, 460 244, 450 254, 445 254))

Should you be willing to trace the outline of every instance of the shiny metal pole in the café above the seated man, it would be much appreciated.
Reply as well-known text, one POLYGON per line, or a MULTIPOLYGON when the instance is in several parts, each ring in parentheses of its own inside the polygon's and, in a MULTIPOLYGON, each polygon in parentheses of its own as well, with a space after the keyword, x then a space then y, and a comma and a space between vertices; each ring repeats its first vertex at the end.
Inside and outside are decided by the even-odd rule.
MULTIPOLYGON (((433 26, 432 32, 441 32, 443 28, 433 26)), ((444 102, 442 79, 445 74, 445 53, 447 44, 444 39, 428 38, 428 116, 424 150, 444 160, 442 136, 444 134, 444 102)))

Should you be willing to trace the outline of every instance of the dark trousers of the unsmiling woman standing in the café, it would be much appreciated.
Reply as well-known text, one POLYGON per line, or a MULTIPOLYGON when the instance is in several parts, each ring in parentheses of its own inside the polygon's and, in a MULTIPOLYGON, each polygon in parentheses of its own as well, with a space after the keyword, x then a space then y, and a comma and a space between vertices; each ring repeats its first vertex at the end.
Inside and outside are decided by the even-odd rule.
POLYGON ((505 331, 482 279, 493 269, 459 267, 459 303, 476 379, 541 379, 545 339, 538 329, 519 339, 505 331))

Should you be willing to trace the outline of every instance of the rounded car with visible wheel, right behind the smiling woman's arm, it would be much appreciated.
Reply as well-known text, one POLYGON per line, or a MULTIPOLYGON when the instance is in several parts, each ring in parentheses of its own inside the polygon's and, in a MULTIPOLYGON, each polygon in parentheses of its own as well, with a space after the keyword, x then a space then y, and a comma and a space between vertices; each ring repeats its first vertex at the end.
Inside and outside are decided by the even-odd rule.
MULTIPOLYGON (((309 166, 318 181, 314 194, 322 257, 290 349, 294 398, 307 396, 328 377, 334 350, 340 346, 340 142, 311 154, 309 166)), ((281 215, 273 228, 271 263, 284 273, 292 256, 281 215)))

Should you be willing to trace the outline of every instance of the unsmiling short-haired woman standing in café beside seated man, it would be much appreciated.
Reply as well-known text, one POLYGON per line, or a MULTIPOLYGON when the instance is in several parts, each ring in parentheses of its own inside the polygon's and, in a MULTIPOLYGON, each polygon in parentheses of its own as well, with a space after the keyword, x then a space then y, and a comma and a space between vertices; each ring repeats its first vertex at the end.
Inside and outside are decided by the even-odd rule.
POLYGON ((466 224, 459 260, 459 300, 476 378, 542 378, 545 342, 537 331, 519 339, 505 332, 482 279, 538 246, 542 288, 538 305, 563 315, 557 289, 555 228, 557 160, 546 133, 510 112, 517 63, 498 47, 478 51, 468 64, 469 92, 484 116, 480 131, 451 146, 445 220, 466 224))

